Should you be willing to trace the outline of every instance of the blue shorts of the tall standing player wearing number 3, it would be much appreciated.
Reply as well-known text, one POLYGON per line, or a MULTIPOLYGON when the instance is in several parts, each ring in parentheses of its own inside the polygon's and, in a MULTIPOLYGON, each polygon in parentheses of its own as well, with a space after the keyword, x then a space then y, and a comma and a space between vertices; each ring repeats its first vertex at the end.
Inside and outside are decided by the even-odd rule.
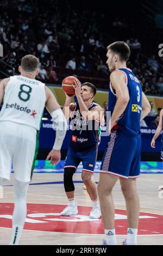
POLYGON ((141 136, 131 137, 112 131, 103 156, 101 173, 109 173, 120 178, 137 178, 140 175, 141 136))

